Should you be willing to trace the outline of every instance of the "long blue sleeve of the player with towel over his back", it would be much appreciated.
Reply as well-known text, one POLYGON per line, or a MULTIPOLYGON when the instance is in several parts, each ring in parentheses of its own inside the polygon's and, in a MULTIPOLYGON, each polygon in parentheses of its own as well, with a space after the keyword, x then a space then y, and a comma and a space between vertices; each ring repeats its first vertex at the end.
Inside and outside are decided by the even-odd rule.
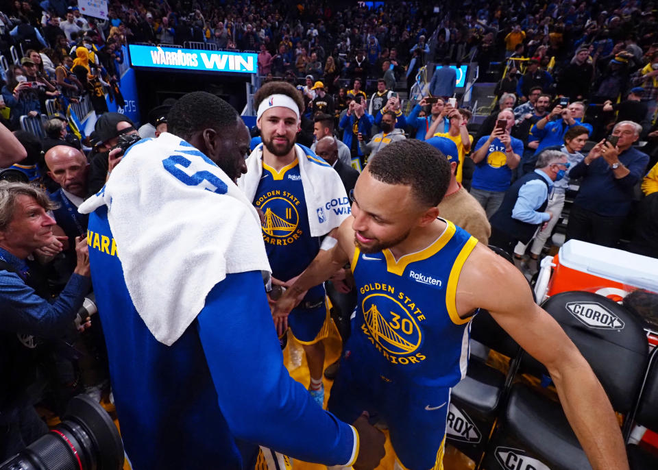
POLYGON ((260 272, 227 275, 208 293, 197 325, 221 412, 238 438, 308 462, 350 465, 353 428, 317 406, 283 365, 260 272))

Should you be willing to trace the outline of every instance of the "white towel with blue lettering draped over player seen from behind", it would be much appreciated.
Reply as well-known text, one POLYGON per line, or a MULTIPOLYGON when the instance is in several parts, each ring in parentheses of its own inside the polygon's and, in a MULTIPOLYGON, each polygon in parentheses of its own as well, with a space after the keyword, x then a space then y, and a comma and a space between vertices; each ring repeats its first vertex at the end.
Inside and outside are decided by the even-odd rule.
POLYGON ((130 147, 80 212, 103 205, 130 298, 165 345, 226 274, 271 272, 258 212, 217 165, 172 134, 130 147))

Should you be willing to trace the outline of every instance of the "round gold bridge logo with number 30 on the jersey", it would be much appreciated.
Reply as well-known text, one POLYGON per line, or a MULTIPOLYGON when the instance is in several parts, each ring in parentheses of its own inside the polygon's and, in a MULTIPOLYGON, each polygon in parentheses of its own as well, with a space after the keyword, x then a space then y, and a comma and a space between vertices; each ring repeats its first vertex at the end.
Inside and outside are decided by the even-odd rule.
MULTIPOLYGON (((418 349, 422 333, 409 310, 399 301, 376 293, 365 297, 361 308, 369 334, 380 347, 399 356, 412 355, 418 349)), ((408 363, 406 358, 398 358, 398 361, 408 363)))

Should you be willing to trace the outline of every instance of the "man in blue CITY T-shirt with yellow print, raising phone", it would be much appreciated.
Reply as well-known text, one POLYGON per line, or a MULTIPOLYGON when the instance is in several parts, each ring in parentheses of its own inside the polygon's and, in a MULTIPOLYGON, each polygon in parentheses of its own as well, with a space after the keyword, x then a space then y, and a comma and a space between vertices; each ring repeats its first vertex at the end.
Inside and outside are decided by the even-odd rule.
POLYGON ((489 219, 500 207, 511 182, 512 170, 521 161, 523 143, 509 135, 513 125, 514 112, 511 109, 499 112, 493 132, 478 140, 471 155, 476 164, 471 195, 478 200, 489 219))

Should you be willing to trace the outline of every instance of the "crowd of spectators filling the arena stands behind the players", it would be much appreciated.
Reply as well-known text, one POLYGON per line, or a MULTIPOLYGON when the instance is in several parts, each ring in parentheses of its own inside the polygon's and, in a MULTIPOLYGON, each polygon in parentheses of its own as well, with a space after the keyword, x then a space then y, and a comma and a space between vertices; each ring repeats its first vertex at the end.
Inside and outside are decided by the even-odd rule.
MULTIPOLYGON (((55 290, 80 297, 88 289, 67 284, 84 264, 75 236, 85 233, 86 220, 66 218, 66 201, 78 206, 100 190, 117 164, 108 152, 122 136, 137 134, 106 103, 106 95, 123 101, 122 47, 129 43, 258 52, 263 82, 284 80, 302 95, 297 143, 343 169, 363 169, 398 140, 428 141, 453 171, 452 206, 441 213, 456 222, 467 208, 462 226, 518 260, 548 252, 570 198, 567 239, 658 258, 653 3, 473 0, 438 10, 424 1, 373 9, 356 3, 114 0, 105 21, 80 14, 71 0, 3 6, 0 53, 9 60, 13 46, 21 57, 19 64, 9 60, 1 77, 0 127, 14 131, 25 149, 14 170, 63 202, 66 256, 49 273, 55 290), (449 66, 462 62, 476 62, 480 82, 496 84, 491 110, 463 106, 449 66), (419 72, 428 64, 442 67, 424 79, 419 72), (420 92, 412 96, 417 82, 420 92), (82 97, 99 116, 87 140, 76 127, 84 116, 71 116, 69 107, 82 97), (59 112, 45 121, 45 138, 21 131, 21 117, 47 114, 51 99, 59 112), (71 151, 49 153, 62 145, 71 151), (461 212, 451 212, 455 204, 461 212)), ((166 129, 167 110, 149 114, 153 136, 166 129)), ((253 149, 259 138, 252 137, 253 149)), ((62 395, 82 386, 75 373, 53 380, 65 382, 62 395)))

